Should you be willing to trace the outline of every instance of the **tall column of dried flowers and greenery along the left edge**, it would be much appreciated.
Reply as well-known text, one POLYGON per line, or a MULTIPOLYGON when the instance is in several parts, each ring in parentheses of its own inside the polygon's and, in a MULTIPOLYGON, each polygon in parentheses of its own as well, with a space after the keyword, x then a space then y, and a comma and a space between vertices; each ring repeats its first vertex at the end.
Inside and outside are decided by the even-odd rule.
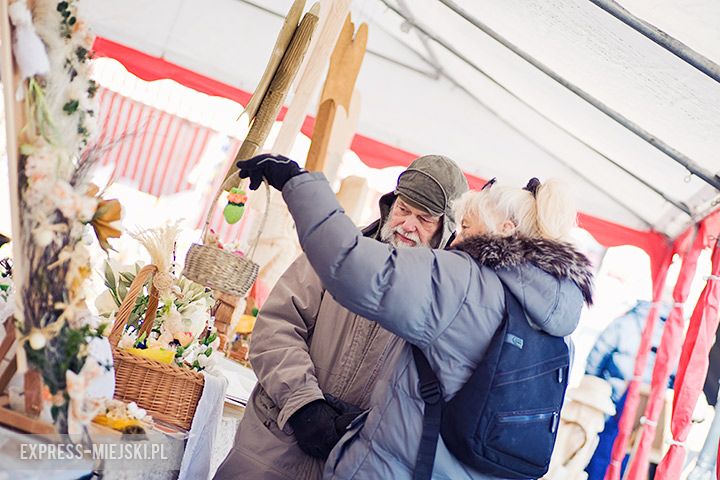
POLYGON ((91 268, 82 238, 92 226, 107 249, 108 238, 120 233, 114 225, 119 203, 103 200, 89 182, 101 152, 94 143, 97 85, 89 75, 93 39, 77 3, 36 0, 31 11, 16 0, 9 7, 26 120, 17 165, 21 231, 15 241, 23 257, 15 259, 23 265, 23 278, 14 279, 17 327, 28 362, 50 390, 60 433, 69 424, 82 428, 99 408, 82 387, 98 366, 86 363, 88 342, 105 327, 85 305, 82 287, 91 268))

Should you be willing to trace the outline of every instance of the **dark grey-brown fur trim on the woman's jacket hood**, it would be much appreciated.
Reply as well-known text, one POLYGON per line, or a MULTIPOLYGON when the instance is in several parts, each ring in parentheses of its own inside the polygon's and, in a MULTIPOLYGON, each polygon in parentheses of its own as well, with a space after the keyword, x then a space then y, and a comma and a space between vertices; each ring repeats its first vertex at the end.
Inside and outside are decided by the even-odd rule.
POLYGON ((556 278, 571 280, 582 292, 585 303, 592 305, 590 260, 568 243, 519 235, 478 235, 454 248, 468 253, 478 263, 493 270, 531 263, 556 278))

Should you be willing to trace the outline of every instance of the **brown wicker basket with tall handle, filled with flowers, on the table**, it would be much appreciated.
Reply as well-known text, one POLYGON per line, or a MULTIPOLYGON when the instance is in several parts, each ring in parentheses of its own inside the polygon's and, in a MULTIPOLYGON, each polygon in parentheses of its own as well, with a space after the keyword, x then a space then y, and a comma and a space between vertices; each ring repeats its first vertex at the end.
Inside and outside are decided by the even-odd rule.
MULTIPOLYGON (((138 272, 115 317, 110 333, 115 364, 115 398, 135 402, 153 418, 189 430, 205 385, 202 374, 137 357, 117 346, 137 296, 157 270, 155 265, 147 265, 138 272)), ((142 332, 150 333, 157 305, 158 291, 151 283, 147 313, 138 335, 142 332)))

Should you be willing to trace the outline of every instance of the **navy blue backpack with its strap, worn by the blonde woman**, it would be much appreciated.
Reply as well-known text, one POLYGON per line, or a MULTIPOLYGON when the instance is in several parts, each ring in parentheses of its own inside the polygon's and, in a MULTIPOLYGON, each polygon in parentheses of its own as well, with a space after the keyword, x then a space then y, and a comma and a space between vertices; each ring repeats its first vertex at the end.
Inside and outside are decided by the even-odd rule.
POLYGON ((432 477, 438 434, 465 465, 500 478, 538 478, 550 466, 569 370, 565 340, 530 326, 505 290, 505 317, 485 357, 447 403, 422 351, 413 346, 425 401, 415 480, 432 477))

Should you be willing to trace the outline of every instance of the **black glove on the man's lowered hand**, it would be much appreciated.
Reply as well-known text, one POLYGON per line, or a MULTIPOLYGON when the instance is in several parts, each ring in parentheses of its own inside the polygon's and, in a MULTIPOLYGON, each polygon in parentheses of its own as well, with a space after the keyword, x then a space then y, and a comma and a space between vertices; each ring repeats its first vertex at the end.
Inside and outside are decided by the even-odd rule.
POLYGON ((335 419, 340 414, 325 400, 315 400, 290 416, 300 449, 311 457, 326 460, 340 440, 335 419))

